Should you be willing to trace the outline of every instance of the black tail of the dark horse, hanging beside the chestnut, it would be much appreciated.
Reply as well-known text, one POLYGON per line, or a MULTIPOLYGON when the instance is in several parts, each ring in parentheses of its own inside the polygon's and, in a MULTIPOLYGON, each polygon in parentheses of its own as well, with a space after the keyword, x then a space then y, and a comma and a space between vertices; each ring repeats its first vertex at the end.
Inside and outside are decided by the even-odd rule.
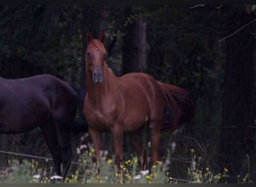
POLYGON ((78 114, 76 118, 73 120, 72 124, 72 133, 77 134, 79 132, 88 132, 88 124, 85 120, 84 114, 83 114, 83 108, 84 108, 84 100, 85 100, 85 89, 79 88, 76 85, 73 85, 69 83, 70 87, 73 88, 74 91, 76 91, 78 95, 78 114))

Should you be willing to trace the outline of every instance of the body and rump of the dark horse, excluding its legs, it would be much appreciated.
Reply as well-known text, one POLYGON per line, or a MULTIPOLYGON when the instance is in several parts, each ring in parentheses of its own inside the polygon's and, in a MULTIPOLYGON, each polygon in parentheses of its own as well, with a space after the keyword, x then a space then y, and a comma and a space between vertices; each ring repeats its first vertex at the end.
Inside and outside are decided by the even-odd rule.
POLYGON ((0 90, 0 132, 25 132, 76 111, 76 91, 55 76, 0 79, 0 90))

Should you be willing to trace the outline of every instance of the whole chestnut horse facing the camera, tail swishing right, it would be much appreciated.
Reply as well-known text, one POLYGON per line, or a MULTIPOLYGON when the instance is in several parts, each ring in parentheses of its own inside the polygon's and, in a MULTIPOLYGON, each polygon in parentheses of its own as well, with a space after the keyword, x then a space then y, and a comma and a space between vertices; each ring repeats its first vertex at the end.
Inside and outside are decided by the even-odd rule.
POLYGON ((147 124, 152 146, 151 163, 158 159, 159 138, 163 129, 173 131, 192 118, 193 102, 182 88, 157 82, 145 73, 128 73, 117 77, 106 64, 108 54, 103 46, 105 34, 100 40, 86 35, 88 47, 85 53, 87 94, 84 102, 85 119, 100 157, 100 134, 111 132, 115 147, 115 163, 123 159, 124 132, 131 140, 138 157, 142 156, 142 144, 138 129, 147 124), (171 108, 170 120, 165 120, 165 108, 171 108), (162 126, 162 123, 164 122, 162 126))

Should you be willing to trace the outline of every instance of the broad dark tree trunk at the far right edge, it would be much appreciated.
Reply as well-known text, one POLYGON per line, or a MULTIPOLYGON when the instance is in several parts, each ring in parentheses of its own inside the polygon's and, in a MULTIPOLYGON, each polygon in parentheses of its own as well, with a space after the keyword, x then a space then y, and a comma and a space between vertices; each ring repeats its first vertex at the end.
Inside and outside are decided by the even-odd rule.
MULTIPOLYGON (((230 10, 227 25, 234 31, 252 21, 252 15, 230 10)), ((254 25, 226 39, 225 89, 222 108, 222 126, 219 147, 219 167, 228 168, 230 180, 241 175, 246 155, 253 151, 254 96, 253 96, 253 55, 255 38, 254 25)), ((232 33, 232 32, 231 32, 232 33)))

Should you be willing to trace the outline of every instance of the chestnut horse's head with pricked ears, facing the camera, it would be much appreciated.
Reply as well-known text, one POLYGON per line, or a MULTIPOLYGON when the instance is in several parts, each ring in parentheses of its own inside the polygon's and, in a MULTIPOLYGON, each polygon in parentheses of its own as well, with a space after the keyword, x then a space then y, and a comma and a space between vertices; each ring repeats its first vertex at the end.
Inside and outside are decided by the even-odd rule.
POLYGON ((103 45, 104 39, 104 32, 102 32, 100 40, 93 39, 90 32, 86 34, 86 71, 92 76, 94 83, 101 83, 103 81, 103 67, 106 64, 106 59, 108 58, 108 53, 103 45))

